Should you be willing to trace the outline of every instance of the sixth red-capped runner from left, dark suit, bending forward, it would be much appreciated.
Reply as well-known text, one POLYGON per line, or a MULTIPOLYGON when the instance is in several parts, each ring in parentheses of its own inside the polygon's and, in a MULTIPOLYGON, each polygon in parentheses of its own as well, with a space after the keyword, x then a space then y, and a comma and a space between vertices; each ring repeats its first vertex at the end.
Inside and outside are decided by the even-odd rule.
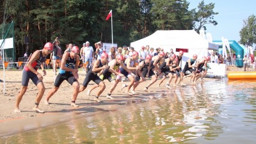
POLYGON ((132 88, 131 88, 131 92, 133 95, 136 94, 135 92, 136 87, 143 81, 146 81, 145 77, 148 76, 148 72, 150 71, 151 59, 152 59, 152 56, 147 55, 145 60, 139 63, 139 68, 138 70, 136 70, 136 76, 134 78, 134 84, 132 85, 132 88))

